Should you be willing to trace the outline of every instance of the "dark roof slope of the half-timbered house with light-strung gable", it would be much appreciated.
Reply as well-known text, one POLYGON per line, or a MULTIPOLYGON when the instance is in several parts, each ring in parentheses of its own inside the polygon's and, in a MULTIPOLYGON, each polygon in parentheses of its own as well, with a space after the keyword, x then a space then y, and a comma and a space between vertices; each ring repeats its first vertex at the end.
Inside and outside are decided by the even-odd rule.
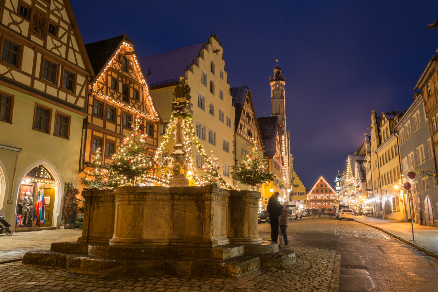
POLYGON ((120 43, 125 39, 131 42, 128 36, 123 34, 111 39, 85 44, 85 49, 90 58, 95 77, 99 76, 100 71, 106 66, 108 60, 114 55, 117 49, 119 49, 120 43))

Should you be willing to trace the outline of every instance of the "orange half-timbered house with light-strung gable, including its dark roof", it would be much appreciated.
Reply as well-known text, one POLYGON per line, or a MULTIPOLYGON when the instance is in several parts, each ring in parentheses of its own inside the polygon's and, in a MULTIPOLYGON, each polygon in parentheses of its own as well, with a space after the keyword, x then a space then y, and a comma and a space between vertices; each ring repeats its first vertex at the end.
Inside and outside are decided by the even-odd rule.
POLYGON ((104 162, 127 135, 135 116, 144 120, 146 143, 154 151, 158 146, 161 118, 152 100, 134 45, 127 35, 85 45, 95 72, 88 99, 88 118, 83 141, 82 167, 91 162, 100 148, 104 162))

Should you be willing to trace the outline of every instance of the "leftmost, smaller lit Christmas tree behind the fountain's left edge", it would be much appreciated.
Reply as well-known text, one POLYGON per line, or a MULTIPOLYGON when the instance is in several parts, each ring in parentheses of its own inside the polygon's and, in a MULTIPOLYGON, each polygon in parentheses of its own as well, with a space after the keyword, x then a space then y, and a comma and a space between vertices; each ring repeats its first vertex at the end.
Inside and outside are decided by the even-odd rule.
POLYGON ((100 148, 96 149, 96 156, 92 156, 92 162, 87 165, 85 169, 91 168, 91 170, 86 171, 85 169, 82 171, 84 177, 81 177, 81 183, 88 187, 97 187, 101 188, 108 184, 107 176, 108 176, 108 168, 102 162, 102 152, 100 148))

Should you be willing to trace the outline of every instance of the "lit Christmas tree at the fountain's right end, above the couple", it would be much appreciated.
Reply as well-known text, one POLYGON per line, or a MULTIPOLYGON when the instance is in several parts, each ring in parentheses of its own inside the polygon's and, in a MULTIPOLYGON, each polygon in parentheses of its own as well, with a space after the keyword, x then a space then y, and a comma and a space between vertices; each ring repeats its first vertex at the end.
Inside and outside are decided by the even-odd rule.
POLYGON ((250 149, 249 155, 244 155, 239 161, 239 165, 231 172, 231 177, 244 185, 251 186, 253 189, 259 183, 265 183, 274 179, 274 173, 270 172, 265 165, 266 159, 263 155, 258 155, 258 151, 262 150, 257 140, 254 140, 254 145, 250 149))

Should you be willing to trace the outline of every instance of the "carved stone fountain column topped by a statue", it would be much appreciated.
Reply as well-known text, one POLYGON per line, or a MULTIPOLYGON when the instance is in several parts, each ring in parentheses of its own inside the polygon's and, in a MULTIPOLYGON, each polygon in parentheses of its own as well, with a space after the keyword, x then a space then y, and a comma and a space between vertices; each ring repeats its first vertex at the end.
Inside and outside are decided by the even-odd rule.
POLYGON ((187 165, 187 148, 184 139, 184 118, 190 113, 188 103, 190 102, 190 87, 186 84, 184 77, 180 77, 180 83, 173 91, 172 113, 175 117, 175 143, 173 145, 173 152, 170 156, 173 158, 172 174, 170 179, 170 186, 188 186, 188 179, 186 178, 187 165))

